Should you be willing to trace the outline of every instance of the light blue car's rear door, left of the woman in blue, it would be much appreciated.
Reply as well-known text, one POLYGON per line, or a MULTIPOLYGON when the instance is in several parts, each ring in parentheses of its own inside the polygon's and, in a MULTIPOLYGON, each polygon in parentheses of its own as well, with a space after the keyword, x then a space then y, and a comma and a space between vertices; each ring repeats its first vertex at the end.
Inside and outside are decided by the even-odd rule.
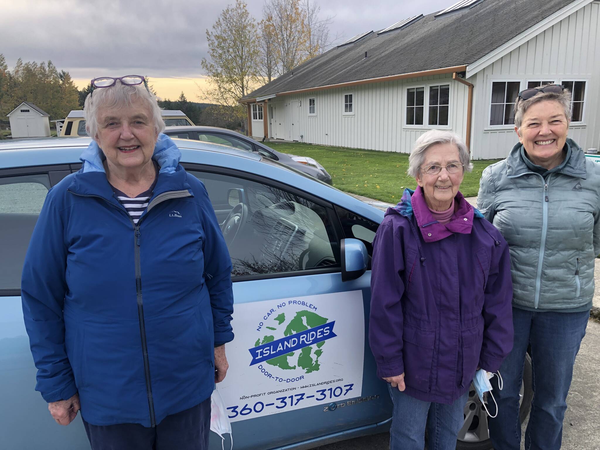
POLYGON ((35 389, 20 298, 25 253, 50 187, 70 166, 0 169, 0 444, 7 449, 89 448, 81 419, 61 427, 35 389), (8 430, 8 433, 5 432, 8 430))

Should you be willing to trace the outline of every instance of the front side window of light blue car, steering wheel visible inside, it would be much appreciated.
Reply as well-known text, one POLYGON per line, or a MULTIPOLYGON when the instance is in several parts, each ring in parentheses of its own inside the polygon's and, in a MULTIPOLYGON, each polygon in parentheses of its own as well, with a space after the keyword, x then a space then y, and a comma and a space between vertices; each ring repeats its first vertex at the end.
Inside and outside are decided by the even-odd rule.
POLYGON ((188 172, 206 185, 229 248, 233 277, 340 266, 338 241, 324 206, 268 184, 188 172), (227 203, 230 189, 243 206, 232 209, 227 203), (236 218, 242 209, 245 217, 236 218))

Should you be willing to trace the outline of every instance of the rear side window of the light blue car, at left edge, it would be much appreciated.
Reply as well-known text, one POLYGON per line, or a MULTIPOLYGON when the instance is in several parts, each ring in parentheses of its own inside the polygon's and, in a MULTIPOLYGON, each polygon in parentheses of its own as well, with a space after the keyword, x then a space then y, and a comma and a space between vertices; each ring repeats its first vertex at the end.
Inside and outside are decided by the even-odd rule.
POLYGON ((49 188, 46 173, 0 178, 0 290, 20 289, 25 253, 49 188))

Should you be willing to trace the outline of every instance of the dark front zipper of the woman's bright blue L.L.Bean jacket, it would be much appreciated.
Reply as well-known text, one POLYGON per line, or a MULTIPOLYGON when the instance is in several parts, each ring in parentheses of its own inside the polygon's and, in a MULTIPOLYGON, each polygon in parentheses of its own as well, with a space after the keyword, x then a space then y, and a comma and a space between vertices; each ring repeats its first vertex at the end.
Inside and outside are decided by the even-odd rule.
POLYGON ((140 242, 141 242, 140 224, 142 223, 142 219, 144 217, 146 217, 146 215, 148 215, 148 212, 150 211, 150 209, 152 207, 158 205, 158 203, 161 203, 164 200, 169 200, 169 199, 173 199, 173 198, 191 197, 191 194, 189 191, 185 190, 185 191, 170 191, 170 192, 166 192, 166 193, 156 196, 156 198, 154 200, 152 200, 151 203, 148 204, 148 208, 146 208, 146 214, 144 215, 144 217, 140 218, 136 224, 133 222, 133 219, 128 214, 128 212, 125 208, 122 208, 121 206, 117 206, 114 203, 109 202, 104 197, 95 196, 95 195, 87 195, 87 194, 77 194, 77 193, 74 193, 73 191, 69 191, 69 192, 73 195, 80 196, 80 197, 96 197, 98 199, 104 200, 104 202, 108 203, 110 206, 113 206, 113 208, 123 211, 125 213, 125 215, 127 215, 127 217, 129 218, 131 224, 133 225, 134 239, 135 239, 134 247, 135 247, 135 255, 136 255, 137 319, 140 324, 140 339, 142 340, 142 353, 143 353, 143 359, 144 359, 144 375, 145 375, 145 379, 146 379, 146 395, 148 397, 148 410, 150 413, 150 426, 152 428, 154 428, 154 427, 156 427, 156 416, 154 414, 154 399, 152 398, 152 385, 150 382, 150 363, 149 363, 149 358, 148 358, 148 344, 146 341, 146 326, 145 326, 145 322, 144 322, 144 308, 143 308, 143 301, 142 301, 142 268, 140 265, 140 242))

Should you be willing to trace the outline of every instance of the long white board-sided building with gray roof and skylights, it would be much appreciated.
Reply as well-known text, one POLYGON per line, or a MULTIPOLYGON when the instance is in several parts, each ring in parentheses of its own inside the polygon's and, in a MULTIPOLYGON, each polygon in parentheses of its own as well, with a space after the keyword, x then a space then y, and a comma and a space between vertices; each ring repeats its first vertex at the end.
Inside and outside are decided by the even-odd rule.
POLYGON ((573 93, 569 137, 600 147, 600 1, 461 0, 368 32, 257 89, 262 139, 410 152, 432 128, 460 134, 473 159, 504 158, 519 91, 573 93))

